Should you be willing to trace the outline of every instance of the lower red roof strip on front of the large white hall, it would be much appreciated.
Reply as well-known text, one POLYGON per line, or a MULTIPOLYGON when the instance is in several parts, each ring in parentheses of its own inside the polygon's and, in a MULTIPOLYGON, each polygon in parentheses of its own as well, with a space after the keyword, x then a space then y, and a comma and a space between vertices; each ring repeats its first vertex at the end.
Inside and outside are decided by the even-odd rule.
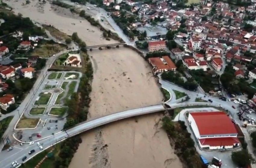
POLYGON ((209 146, 233 146, 236 143, 240 143, 237 137, 225 137, 225 138, 205 138, 199 139, 202 145, 209 146))

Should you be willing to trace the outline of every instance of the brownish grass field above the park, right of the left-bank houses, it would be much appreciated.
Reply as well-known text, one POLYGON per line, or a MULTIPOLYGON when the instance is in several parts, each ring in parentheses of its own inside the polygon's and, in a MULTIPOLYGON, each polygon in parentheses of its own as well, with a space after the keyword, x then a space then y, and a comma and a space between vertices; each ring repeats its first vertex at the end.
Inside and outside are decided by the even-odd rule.
POLYGON ((64 45, 42 43, 42 44, 39 44, 30 53, 30 55, 32 55, 32 56, 38 55, 40 57, 51 57, 52 55, 54 55, 64 49, 66 49, 66 47, 64 45))

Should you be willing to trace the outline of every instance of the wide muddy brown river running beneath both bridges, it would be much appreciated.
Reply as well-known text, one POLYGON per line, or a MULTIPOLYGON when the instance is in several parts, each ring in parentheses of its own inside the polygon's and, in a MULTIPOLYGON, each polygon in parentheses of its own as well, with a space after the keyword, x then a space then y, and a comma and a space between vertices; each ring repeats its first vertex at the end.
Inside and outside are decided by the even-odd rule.
MULTIPOLYGON (((33 0, 24 6, 21 1, 6 2, 16 13, 36 22, 51 24, 69 35, 77 32, 87 45, 116 42, 102 39, 102 32, 89 22, 69 10, 51 8, 48 2, 39 8, 35 7, 40 6, 38 1, 33 0)), ((89 55, 94 66, 89 118, 162 102, 151 67, 133 50, 95 49, 89 55)), ((161 129, 161 117, 152 114, 126 119, 83 134, 70 168, 182 167, 161 129)))

